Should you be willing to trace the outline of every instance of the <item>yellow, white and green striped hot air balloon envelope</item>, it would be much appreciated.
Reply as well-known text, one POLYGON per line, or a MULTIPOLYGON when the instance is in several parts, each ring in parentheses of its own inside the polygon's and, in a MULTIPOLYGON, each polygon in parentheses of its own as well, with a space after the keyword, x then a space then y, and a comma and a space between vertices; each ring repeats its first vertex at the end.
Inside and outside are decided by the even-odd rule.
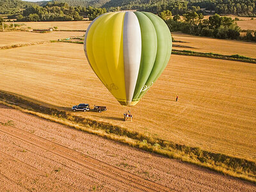
POLYGON ((168 26, 148 12, 105 13, 84 36, 88 63, 123 106, 140 101, 163 72, 171 51, 168 26))

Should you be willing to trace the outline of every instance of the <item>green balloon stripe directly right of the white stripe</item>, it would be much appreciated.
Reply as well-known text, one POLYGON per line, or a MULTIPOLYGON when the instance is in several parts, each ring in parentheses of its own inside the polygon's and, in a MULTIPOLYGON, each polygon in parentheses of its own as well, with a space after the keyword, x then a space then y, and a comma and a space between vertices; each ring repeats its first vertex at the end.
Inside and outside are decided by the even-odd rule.
POLYGON ((148 77, 154 67, 157 54, 157 35, 151 20, 141 12, 134 12, 137 16, 141 29, 141 62, 136 88, 132 100, 140 100, 141 91, 147 82, 148 77))

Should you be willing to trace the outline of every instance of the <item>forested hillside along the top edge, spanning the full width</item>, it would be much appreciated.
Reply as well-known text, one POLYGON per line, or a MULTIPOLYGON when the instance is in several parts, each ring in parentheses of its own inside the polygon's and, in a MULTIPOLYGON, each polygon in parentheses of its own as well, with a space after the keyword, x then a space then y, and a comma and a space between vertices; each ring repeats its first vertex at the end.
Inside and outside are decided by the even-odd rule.
MULTIPOLYGON (((239 15, 256 17, 256 0, 54 0, 58 3, 68 3, 70 6, 93 6, 106 8, 107 11, 139 10, 152 13, 170 10, 173 14, 187 12, 203 13, 204 15, 218 13, 220 15, 239 15)), ((53 3, 54 1, 51 1, 53 3)), ((46 6, 49 2, 38 2, 46 6)), ((0 13, 18 13, 35 3, 21 0, 0 0, 0 13)))

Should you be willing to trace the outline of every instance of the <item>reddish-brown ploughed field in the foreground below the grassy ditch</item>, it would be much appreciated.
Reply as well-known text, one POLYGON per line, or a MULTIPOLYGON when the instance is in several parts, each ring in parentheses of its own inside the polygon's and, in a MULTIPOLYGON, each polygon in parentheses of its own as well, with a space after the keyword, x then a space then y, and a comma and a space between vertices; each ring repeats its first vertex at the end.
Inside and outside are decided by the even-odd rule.
POLYGON ((248 182, 1 104, 0 132, 0 191, 256 190, 248 182))

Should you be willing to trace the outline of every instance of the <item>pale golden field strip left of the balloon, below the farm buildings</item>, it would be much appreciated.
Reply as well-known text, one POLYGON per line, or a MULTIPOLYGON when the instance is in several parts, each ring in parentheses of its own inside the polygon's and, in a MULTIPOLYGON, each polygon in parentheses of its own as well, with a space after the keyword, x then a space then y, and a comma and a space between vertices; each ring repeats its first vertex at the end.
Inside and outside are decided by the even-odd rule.
MULTIPOLYGON (((52 31, 49 33, 33 33, 24 31, 4 32, 0 35, 0 47, 16 44, 31 44, 49 40, 58 40, 70 36, 83 36, 84 32, 52 31)), ((32 48, 33 49, 33 48, 32 48)))

